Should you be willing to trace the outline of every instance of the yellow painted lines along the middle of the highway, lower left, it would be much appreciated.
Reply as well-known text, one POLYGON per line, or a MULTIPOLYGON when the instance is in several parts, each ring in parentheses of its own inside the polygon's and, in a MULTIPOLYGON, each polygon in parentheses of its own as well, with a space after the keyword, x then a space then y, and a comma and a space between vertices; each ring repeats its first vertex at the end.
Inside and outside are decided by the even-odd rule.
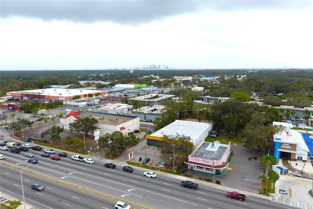
MULTIPOLYGON (((10 163, 8 163, 8 164, 10 164, 10 163)), ((14 169, 14 170, 20 171, 20 170, 18 170, 18 169, 16 169, 16 168, 12 168, 12 167, 9 167, 9 166, 7 166, 7 165, 3 165, 3 163, 1 163, 1 165, 4 166, 4 167, 7 167, 7 168, 9 168, 9 169, 14 169)), ((12 164, 12 165, 13 165, 13 164, 12 164)), ((19 167, 19 166, 16 166, 16 167, 19 167)), ((21 167, 19 167, 19 168, 21 168, 21 167)), ((21 169, 23 169, 23 168, 21 168, 21 169)), ((59 185, 62 185, 62 186, 66 186, 66 187, 68 187, 68 188, 70 188, 70 189, 74 189, 74 190, 77 190, 77 191, 81 191, 81 192, 84 192, 84 193, 86 193, 86 194, 90 194, 90 195, 93 195, 93 196, 96 196, 96 197, 100 197, 100 198, 102 198, 102 199, 105 199, 105 200, 108 200, 108 201, 111 201, 111 202, 115 202, 115 200, 111 200, 111 199, 108 199, 108 198, 105 198, 105 197, 96 195, 96 194, 94 194, 94 193, 91 193, 91 192, 88 192, 88 191, 84 191, 84 190, 75 188, 75 187, 73 187, 73 186, 65 185, 65 184, 56 182, 56 181, 54 181, 54 180, 49 180, 49 179, 46 179, 46 178, 44 178, 44 177, 41 177, 41 176, 38 176, 38 175, 34 175, 34 174, 31 174, 31 173, 28 173, 27 171, 28 171, 28 170, 25 170, 24 173, 26 173, 26 174, 28 174, 28 175, 32 175, 32 176, 38 177, 38 178, 41 178, 41 179, 44 179, 44 180, 47 180, 47 181, 50 181, 50 182, 53 182, 53 183, 56 183, 56 184, 59 184, 59 185)), ((32 170, 31 170, 31 172, 40 174, 40 173, 38 173, 38 172, 36 172, 36 171, 32 171, 32 170)), ((55 177, 52 177, 52 176, 49 176, 49 175, 46 175, 46 174, 40 174, 40 175, 48 176, 48 177, 50 177, 51 179, 55 178, 55 177)), ((152 208, 152 207, 148 207, 148 206, 142 205, 142 204, 140 204, 140 203, 136 203, 136 202, 129 201, 129 200, 124 200, 123 198, 120 198, 120 197, 117 197, 117 196, 113 196, 113 195, 109 195, 109 194, 107 194, 107 193, 100 192, 100 191, 97 191, 97 190, 94 190, 94 189, 90 189, 90 188, 88 188, 88 187, 81 186, 81 185, 78 185, 78 184, 75 184, 75 183, 71 183, 71 182, 69 182, 69 181, 65 181, 65 180, 60 180, 60 181, 66 182, 66 183, 68 183, 68 184, 72 184, 72 185, 79 186, 79 187, 84 188, 84 189, 86 189, 86 190, 92 190, 92 191, 95 191, 95 192, 97 192, 97 193, 101 193, 101 194, 104 194, 104 195, 107 195, 107 196, 110 196, 110 197, 114 197, 114 198, 117 198, 117 199, 122 199, 123 201, 131 202, 131 203, 133 203, 133 204, 143 206, 144 208, 154 209, 154 208, 152 208)))

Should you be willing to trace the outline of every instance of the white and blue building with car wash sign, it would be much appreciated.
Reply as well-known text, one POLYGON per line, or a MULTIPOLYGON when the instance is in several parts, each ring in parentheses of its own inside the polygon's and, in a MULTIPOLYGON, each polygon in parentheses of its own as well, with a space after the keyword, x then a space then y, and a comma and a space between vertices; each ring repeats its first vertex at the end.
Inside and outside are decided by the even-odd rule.
POLYGON ((310 151, 307 145, 309 140, 306 142, 304 139, 304 135, 308 136, 307 134, 291 129, 293 126, 290 122, 273 122, 273 126, 276 129, 276 133, 273 138, 275 149, 272 154, 274 154, 277 160, 281 158, 304 163, 310 161, 310 152, 312 150, 310 151))

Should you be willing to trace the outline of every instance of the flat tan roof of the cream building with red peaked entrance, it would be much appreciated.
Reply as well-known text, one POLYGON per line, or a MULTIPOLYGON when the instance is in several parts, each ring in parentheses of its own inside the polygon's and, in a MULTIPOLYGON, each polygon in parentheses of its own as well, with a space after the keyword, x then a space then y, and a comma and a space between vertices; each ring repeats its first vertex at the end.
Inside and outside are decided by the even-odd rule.
POLYGON ((99 112, 83 112, 80 113, 80 118, 88 117, 88 115, 91 115, 91 117, 94 117, 98 120, 98 123, 102 124, 110 124, 110 125, 118 125, 121 123, 125 123, 127 121, 131 121, 134 118, 137 118, 138 116, 131 116, 131 115, 117 115, 117 114, 109 114, 109 113, 99 113, 99 112), (100 120, 100 117, 103 117, 103 120, 100 120), (114 121, 114 118, 117 120, 114 121))

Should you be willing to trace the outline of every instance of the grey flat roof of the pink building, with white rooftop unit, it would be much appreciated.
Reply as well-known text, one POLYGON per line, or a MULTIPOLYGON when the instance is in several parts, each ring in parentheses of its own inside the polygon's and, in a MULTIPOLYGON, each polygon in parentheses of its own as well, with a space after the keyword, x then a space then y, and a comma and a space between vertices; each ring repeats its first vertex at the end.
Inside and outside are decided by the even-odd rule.
POLYGON ((215 141, 214 143, 204 142, 203 145, 201 145, 201 147, 199 147, 190 156, 207 160, 220 160, 222 159, 227 147, 227 144, 221 144, 219 141, 215 141))

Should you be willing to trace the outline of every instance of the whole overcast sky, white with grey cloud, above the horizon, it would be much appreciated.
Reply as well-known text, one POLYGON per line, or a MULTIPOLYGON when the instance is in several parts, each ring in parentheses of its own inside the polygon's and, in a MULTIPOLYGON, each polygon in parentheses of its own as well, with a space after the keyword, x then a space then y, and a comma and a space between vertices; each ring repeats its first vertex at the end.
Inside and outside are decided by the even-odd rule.
POLYGON ((313 1, 0 1, 0 69, 313 67, 313 1))

